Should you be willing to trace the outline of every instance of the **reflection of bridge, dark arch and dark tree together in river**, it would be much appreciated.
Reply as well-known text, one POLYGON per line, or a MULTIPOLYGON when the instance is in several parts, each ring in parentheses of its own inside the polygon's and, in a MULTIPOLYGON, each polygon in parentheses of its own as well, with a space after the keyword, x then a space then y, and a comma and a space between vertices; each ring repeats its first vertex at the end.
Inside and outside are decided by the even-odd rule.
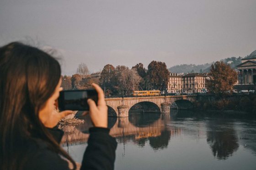
MULTIPOLYGON (((64 146, 81 144, 89 137, 89 128, 92 127, 89 116, 83 117, 84 124, 62 127, 64 130, 64 146)), ((108 118, 110 134, 117 138, 118 143, 133 141, 139 147, 144 147, 149 141, 152 149, 165 149, 171 135, 181 134, 181 129, 171 128, 167 124, 171 121, 170 114, 160 113, 131 113, 129 117, 108 118)))

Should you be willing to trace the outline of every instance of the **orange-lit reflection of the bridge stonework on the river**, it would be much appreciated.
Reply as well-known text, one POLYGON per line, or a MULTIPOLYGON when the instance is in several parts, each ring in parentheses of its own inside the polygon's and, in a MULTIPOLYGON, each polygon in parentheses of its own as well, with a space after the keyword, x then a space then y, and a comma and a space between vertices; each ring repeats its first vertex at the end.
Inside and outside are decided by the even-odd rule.
MULTIPOLYGON (((150 114, 150 113, 145 113, 150 114)), ((157 113, 154 113, 157 114, 157 113)), ((113 137, 127 137, 134 140, 159 137, 163 132, 168 133, 168 136, 181 135, 181 129, 171 128, 166 125, 170 122, 170 114, 161 115, 158 114, 158 119, 150 124, 139 125, 133 118, 124 117, 116 118, 115 124, 110 129, 110 135, 113 137)), ((91 126, 90 122, 79 124, 77 126, 64 126, 61 129, 64 130, 64 137, 62 139, 63 146, 84 144, 89 138, 88 129, 91 126)))

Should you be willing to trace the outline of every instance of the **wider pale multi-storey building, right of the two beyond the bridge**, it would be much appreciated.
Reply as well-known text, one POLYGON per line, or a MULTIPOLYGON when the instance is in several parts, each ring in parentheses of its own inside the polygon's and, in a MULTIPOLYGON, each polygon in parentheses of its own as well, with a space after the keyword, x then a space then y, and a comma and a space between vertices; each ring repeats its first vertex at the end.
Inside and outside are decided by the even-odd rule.
POLYGON ((202 73, 188 73, 182 77, 182 92, 183 93, 204 93, 205 79, 207 75, 202 73))

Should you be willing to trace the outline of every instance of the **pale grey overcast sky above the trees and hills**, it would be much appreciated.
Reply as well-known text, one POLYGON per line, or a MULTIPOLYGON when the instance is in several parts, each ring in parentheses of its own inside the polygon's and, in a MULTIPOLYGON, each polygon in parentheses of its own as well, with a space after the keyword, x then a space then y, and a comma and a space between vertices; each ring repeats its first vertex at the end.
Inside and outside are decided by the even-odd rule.
POLYGON ((79 63, 203 64, 256 50, 256 0, 0 0, 0 46, 30 40, 79 63), (28 38, 29 37, 29 38, 28 38))

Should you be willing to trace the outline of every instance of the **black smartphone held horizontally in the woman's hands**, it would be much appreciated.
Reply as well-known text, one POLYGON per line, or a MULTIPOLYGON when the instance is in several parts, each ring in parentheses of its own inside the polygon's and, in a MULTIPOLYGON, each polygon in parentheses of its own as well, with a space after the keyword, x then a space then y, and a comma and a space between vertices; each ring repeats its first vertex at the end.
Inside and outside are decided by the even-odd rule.
POLYGON ((59 93, 58 107, 63 110, 88 111, 87 99, 91 98, 98 103, 98 93, 94 89, 90 90, 64 90, 59 93))

